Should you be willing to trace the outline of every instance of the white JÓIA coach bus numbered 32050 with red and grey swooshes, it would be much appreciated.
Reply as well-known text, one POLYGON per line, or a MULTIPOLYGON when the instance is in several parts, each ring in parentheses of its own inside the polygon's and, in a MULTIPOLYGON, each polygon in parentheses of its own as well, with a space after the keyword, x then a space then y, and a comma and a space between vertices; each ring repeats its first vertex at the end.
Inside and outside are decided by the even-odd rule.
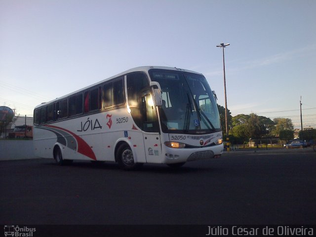
POLYGON ((214 96, 202 74, 134 68, 37 106, 35 155, 58 164, 114 161, 123 169, 220 158, 214 96))

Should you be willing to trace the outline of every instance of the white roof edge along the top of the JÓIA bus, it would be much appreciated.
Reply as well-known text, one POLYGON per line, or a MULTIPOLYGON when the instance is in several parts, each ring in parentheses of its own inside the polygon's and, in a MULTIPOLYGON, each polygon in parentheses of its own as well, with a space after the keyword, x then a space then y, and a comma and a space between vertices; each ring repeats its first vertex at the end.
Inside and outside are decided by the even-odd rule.
MULTIPOLYGON (((108 80, 111 80, 111 79, 115 79, 115 78, 124 76, 124 75, 126 75, 126 74, 128 74, 128 73, 133 73, 133 72, 148 72, 150 69, 164 69, 164 70, 173 70, 173 71, 182 71, 182 72, 189 72, 189 73, 200 74, 200 73, 197 73, 197 72, 194 72, 194 71, 190 71, 190 70, 186 70, 186 69, 180 69, 180 68, 176 68, 176 67, 172 68, 172 67, 162 67, 162 66, 143 66, 143 67, 132 68, 132 69, 129 69, 129 70, 124 71, 124 72, 122 72, 122 73, 119 73, 119 74, 117 74, 117 75, 115 75, 115 76, 112 76, 112 77, 110 77, 110 78, 107 78, 107 79, 98 81, 98 82, 96 82, 96 83, 94 83, 94 84, 88 85, 88 86, 86 86, 86 87, 84 87, 84 88, 81 88, 81 89, 79 89, 79 90, 76 90, 76 91, 74 91, 74 92, 71 92, 71 93, 69 93, 69 94, 67 94, 67 95, 61 96, 61 97, 59 97, 59 98, 56 98, 56 99, 51 100, 51 101, 48 101, 48 102, 41 103, 40 105, 36 106, 35 109, 37 109, 37 108, 39 108, 39 107, 41 107, 41 106, 50 104, 50 103, 52 103, 52 102, 54 102, 54 101, 58 101, 58 100, 67 98, 67 97, 69 97, 70 95, 77 94, 77 93, 79 93, 79 92, 81 92, 81 91, 84 91, 84 90, 86 90, 86 89, 88 89, 88 88, 91 88, 91 87, 93 87, 93 86, 102 84, 102 83, 104 83, 104 82, 106 82, 106 81, 108 81, 108 80)), ((202 74, 200 74, 200 75, 202 75, 202 74)))

